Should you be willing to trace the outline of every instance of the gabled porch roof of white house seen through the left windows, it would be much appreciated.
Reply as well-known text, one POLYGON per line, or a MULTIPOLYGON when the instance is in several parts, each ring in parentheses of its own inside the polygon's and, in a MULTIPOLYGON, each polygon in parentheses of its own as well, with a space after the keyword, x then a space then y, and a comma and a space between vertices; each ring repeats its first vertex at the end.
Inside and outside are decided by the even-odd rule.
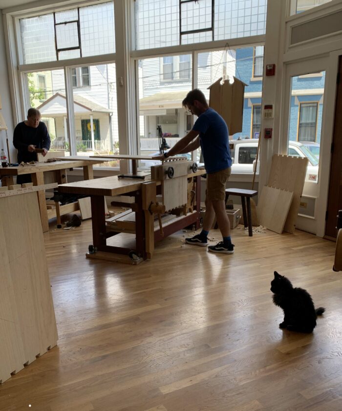
MULTIPOLYGON (((109 110, 98 103, 94 103, 79 94, 74 94, 73 97, 75 114, 112 113, 112 110, 109 110)), ((55 93, 37 108, 41 112, 42 116, 64 116, 66 114, 65 95, 63 93, 55 93)))

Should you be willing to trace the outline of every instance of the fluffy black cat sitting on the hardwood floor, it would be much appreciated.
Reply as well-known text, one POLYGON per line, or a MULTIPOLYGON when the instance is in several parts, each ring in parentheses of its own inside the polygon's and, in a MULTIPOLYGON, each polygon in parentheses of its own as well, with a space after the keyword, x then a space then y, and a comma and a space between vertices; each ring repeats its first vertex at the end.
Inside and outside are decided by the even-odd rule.
POLYGON ((279 328, 298 332, 313 331, 317 316, 322 315, 325 308, 315 309, 311 295, 303 288, 293 288, 290 280, 277 271, 271 281, 271 291, 274 293, 273 302, 284 311, 284 320, 279 328))

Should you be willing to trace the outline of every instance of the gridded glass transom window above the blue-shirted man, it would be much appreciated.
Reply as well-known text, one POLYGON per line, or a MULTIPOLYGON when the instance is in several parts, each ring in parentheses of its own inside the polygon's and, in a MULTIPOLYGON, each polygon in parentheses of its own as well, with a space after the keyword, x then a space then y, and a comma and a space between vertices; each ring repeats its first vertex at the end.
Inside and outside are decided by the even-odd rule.
POLYGON ((267 0, 135 0, 136 49, 265 34, 267 0))

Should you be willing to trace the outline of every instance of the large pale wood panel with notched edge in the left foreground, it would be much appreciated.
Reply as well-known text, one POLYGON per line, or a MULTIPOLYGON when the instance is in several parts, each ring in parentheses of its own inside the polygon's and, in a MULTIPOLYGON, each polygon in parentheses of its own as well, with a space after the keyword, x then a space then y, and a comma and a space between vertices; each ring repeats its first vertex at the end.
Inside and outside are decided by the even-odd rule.
MULTIPOLYGON (((6 278, 1 283, 11 290, 10 308, 5 306, 7 311, 5 317, 1 313, 1 318, 12 315, 13 324, 20 330, 16 341, 12 331, 2 335, 0 343, 13 346, 12 357, 20 357, 17 371, 20 364, 29 364, 55 346, 58 339, 37 194, 26 192, 0 198, 0 226, 6 233, 1 260, 8 261, 8 269, 1 273, 6 278)), ((7 289, 0 288, 0 300, 6 301, 7 289)))

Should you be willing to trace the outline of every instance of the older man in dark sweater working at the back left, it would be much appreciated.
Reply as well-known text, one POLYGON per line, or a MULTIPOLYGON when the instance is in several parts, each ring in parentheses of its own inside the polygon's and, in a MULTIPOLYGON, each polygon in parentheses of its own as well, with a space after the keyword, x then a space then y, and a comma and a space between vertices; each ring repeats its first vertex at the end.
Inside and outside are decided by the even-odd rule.
MULTIPOLYGON (((36 148, 43 148, 43 156, 46 156, 51 144, 46 125, 40 121, 41 113, 36 108, 30 108, 27 112, 27 120, 17 124, 13 133, 13 145, 18 150, 18 163, 37 161, 36 148)), ((17 184, 31 181, 29 174, 17 177, 17 184)))

